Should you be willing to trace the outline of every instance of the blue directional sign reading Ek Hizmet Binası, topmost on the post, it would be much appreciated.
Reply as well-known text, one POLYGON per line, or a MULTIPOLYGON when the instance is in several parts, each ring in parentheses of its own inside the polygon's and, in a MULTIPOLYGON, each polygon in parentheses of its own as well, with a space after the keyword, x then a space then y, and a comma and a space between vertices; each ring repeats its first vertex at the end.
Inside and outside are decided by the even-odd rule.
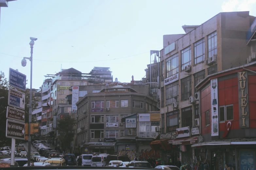
POLYGON ((26 75, 12 68, 9 69, 9 85, 26 91, 26 75))

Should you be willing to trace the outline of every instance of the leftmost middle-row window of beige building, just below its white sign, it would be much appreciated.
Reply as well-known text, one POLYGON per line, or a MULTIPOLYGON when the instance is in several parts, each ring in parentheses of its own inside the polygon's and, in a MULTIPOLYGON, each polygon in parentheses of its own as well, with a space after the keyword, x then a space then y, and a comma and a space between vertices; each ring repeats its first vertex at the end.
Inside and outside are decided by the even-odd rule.
POLYGON ((166 105, 179 101, 179 82, 166 86, 166 105))

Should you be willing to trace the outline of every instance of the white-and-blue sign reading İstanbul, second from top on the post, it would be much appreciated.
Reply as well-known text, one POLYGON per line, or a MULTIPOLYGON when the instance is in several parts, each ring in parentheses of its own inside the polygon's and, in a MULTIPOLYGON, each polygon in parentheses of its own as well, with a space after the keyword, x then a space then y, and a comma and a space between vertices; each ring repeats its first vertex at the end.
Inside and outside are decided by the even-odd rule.
POLYGON ((25 93, 9 89, 8 105, 25 109, 25 93))

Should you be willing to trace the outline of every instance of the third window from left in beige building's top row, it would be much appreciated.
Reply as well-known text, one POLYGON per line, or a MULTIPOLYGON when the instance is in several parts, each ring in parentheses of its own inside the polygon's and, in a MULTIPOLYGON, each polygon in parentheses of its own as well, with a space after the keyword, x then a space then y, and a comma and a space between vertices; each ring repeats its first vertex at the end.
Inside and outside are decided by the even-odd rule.
POLYGON ((199 41, 197 41, 194 44, 194 54, 195 54, 195 58, 194 58, 194 65, 201 63, 204 61, 205 59, 205 42, 204 39, 201 39, 199 41))

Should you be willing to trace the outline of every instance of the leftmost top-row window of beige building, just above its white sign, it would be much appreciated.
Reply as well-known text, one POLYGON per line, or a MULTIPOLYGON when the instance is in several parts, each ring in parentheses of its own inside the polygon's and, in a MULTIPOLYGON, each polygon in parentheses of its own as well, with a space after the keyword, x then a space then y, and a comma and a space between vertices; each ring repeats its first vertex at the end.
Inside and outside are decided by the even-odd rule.
POLYGON ((166 59, 166 78, 179 73, 179 54, 166 59))

